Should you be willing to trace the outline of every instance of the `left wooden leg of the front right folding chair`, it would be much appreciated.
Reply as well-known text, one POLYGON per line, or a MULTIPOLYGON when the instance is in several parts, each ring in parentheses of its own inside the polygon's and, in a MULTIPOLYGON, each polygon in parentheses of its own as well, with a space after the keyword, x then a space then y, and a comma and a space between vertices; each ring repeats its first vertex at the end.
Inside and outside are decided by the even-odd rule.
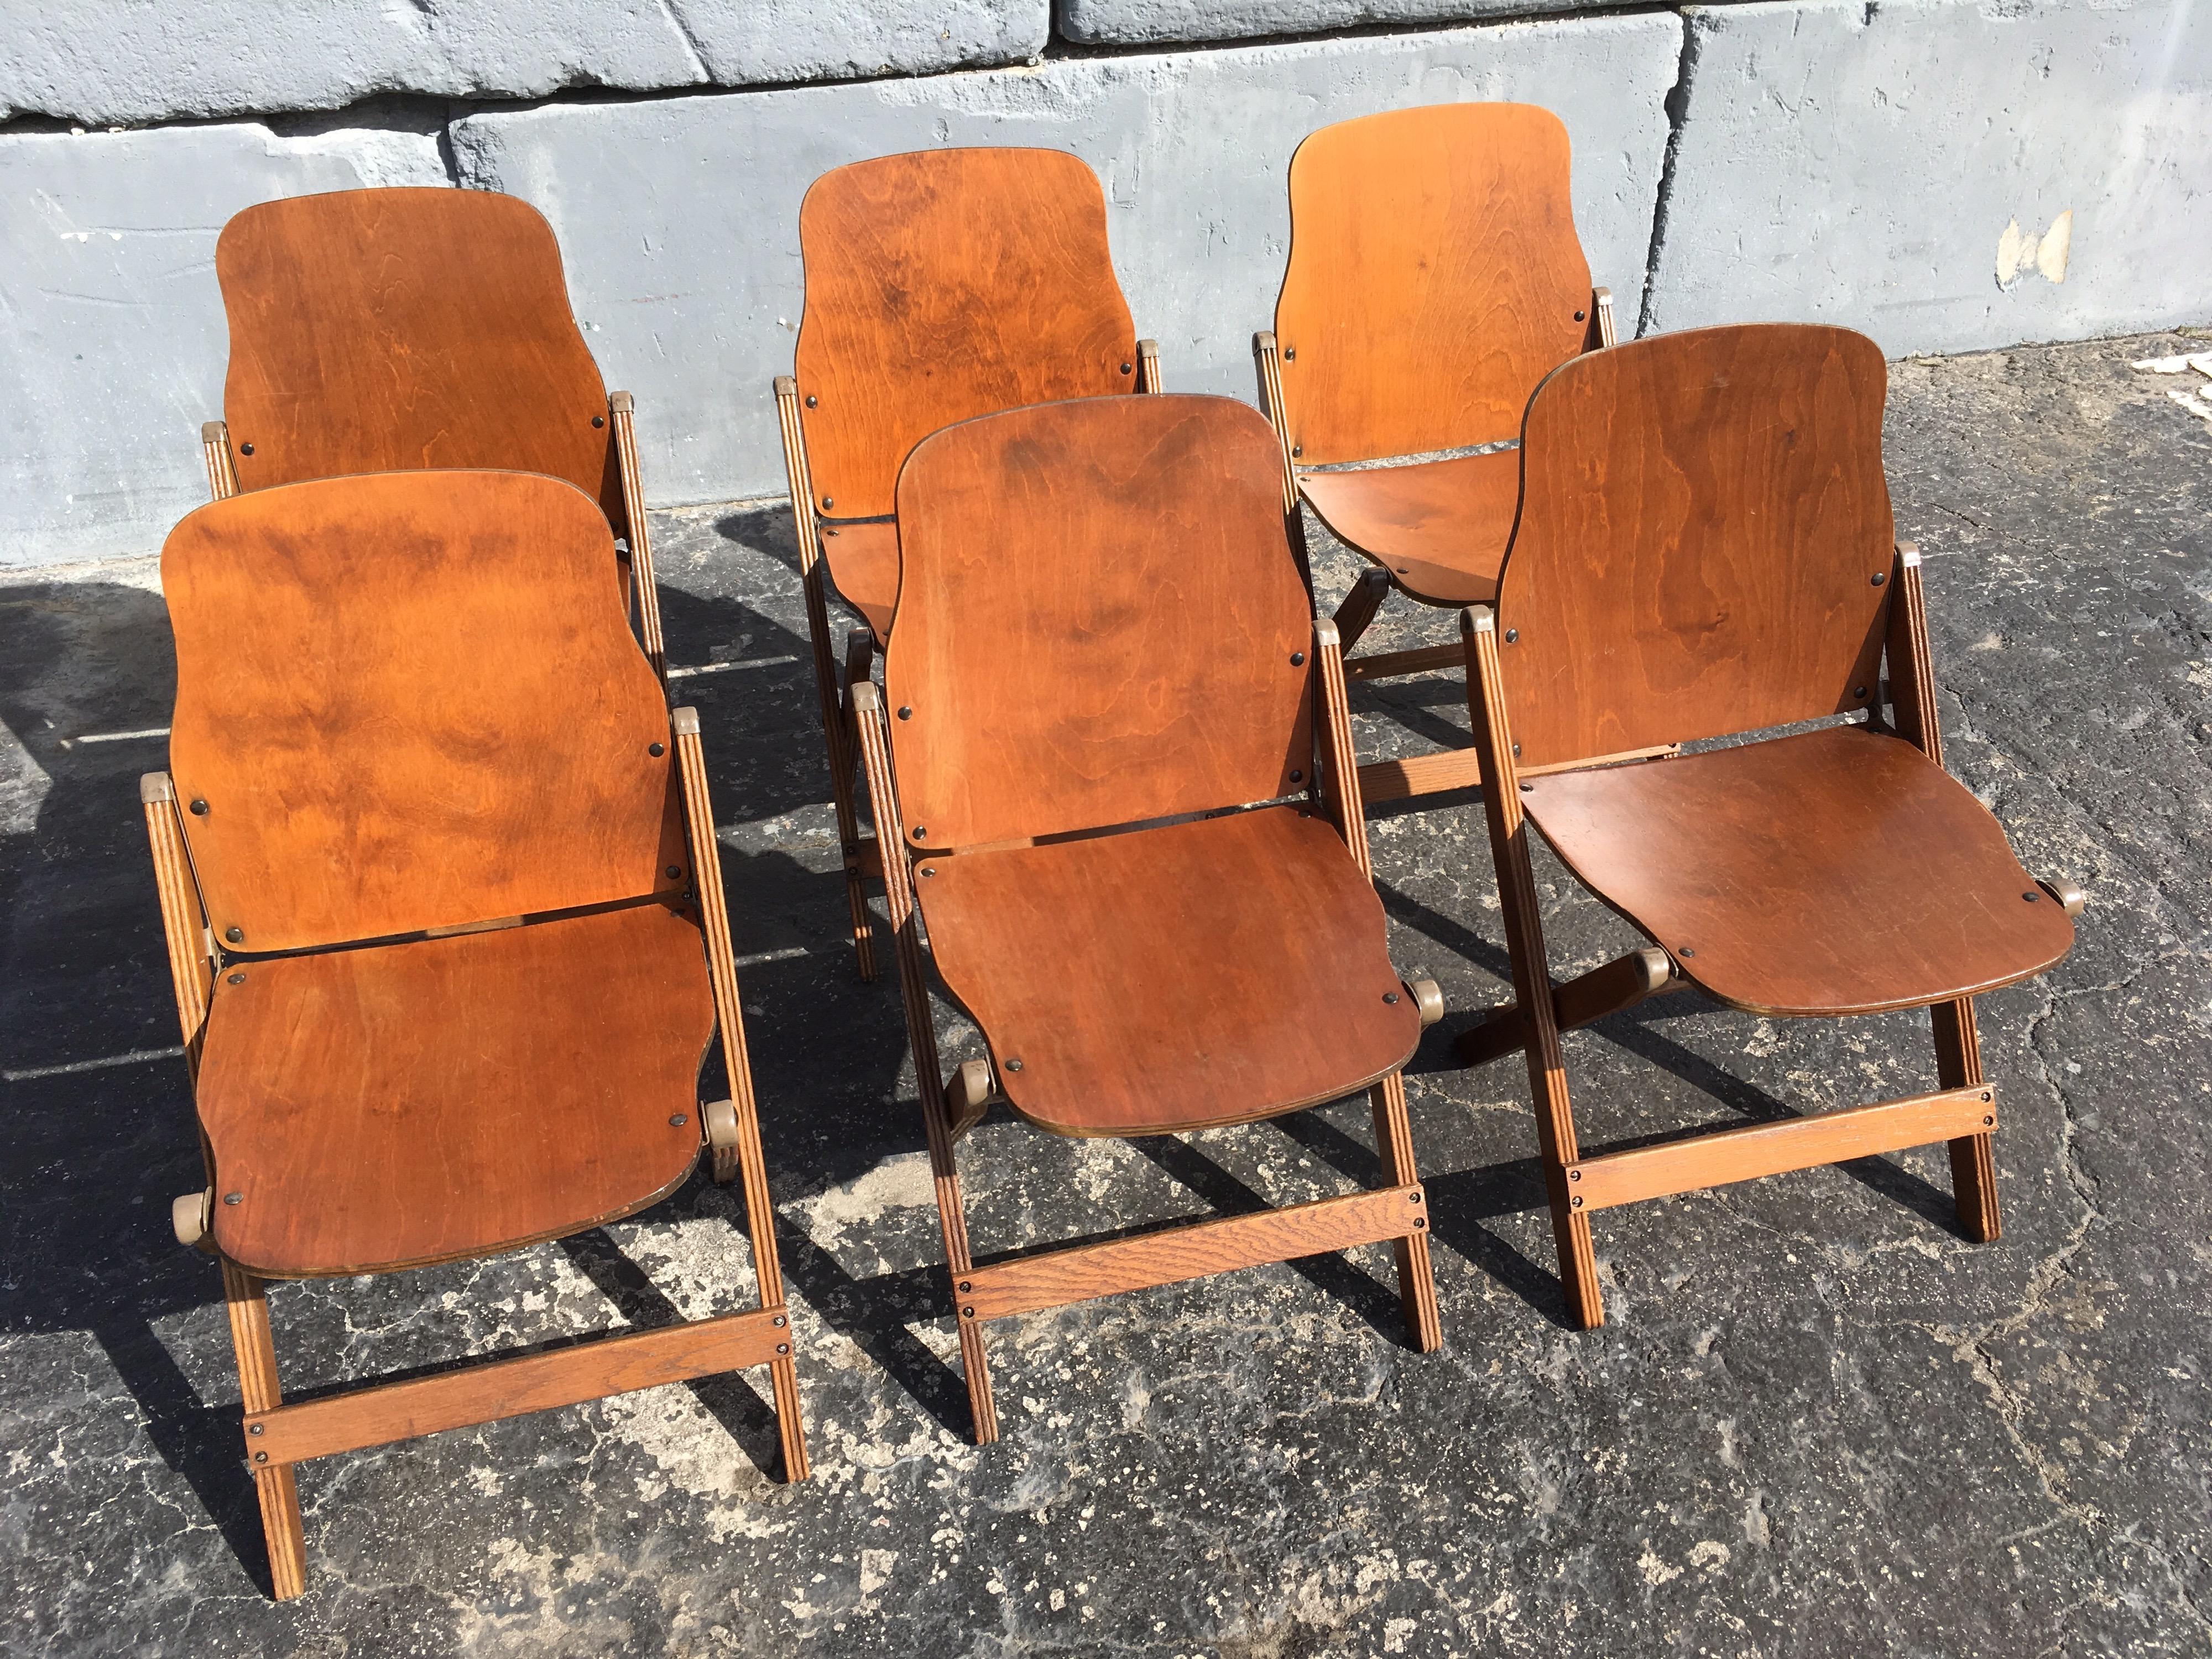
POLYGON ((1482 816, 1498 865, 1498 905, 1504 911, 1506 951, 1513 960, 1513 1000, 1524 1011, 1528 1093, 1535 1097, 1535 1135, 1544 1157, 1544 1190, 1551 1197, 1551 1232, 1559 1248, 1559 1285, 1568 1318, 1579 1329, 1606 1323, 1597 1287, 1597 1250, 1590 1217, 1571 1192, 1566 1166, 1579 1159, 1575 1108, 1566 1093, 1566 1060, 1559 1053, 1557 987, 1544 958, 1544 922, 1528 865, 1528 821, 1520 805, 1520 770, 1513 763, 1513 732, 1506 726, 1498 672, 1498 617, 1489 606, 1460 613, 1467 639, 1467 703, 1475 726, 1482 772, 1498 785, 1482 792, 1482 816))

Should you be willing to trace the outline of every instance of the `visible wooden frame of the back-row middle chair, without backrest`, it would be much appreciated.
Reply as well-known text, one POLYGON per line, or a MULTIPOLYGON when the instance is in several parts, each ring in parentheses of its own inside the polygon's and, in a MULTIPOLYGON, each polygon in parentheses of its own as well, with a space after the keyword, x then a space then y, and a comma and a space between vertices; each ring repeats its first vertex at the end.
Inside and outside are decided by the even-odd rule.
MULTIPOLYGON (((1137 341, 1137 392, 1159 392, 1159 341, 1137 341)), ((799 378, 774 378, 776 429, 783 440, 783 478, 792 498, 792 533, 799 540, 799 582, 807 599, 807 639, 814 650, 814 699, 823 721, 823 748, 830 754, 830 799, 836 805, 836 834, 845 852, 845 905, 852 914, 854 964, 863 980, 876 978, 876 938, 867 914, 867 878, 883 880, 883 856, 874 832, 860 832, 860 805, 854 772, 860 745, 854 728, 852 692, 874 681, 876 633, 852 628, 845 635, 843 661, 830 630, 830 560, 823 555, 823 520, 816 511, 814 471, 807 467, 807 429, 799 378)))

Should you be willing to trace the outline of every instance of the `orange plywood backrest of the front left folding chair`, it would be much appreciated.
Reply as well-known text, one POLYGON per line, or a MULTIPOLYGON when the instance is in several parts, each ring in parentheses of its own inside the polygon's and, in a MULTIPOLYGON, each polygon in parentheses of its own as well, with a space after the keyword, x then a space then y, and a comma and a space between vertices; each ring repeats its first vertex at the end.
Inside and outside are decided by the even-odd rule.
POLYGON ((681 889, 668 710, 613 553, 588 495, 491 471, 281 484, 170 531, 168 752, 217 938, 681 889))

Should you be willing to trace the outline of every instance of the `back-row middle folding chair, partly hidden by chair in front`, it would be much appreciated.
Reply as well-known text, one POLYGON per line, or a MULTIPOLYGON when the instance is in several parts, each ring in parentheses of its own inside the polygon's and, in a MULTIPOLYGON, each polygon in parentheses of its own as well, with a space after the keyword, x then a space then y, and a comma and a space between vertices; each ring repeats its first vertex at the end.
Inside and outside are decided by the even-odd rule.
POLYGON ((898 467, 956 420, 1026 403, 1159 392, 1106 248, 1106 192, 1062 150, 918 150, 818 177, 799 208, 807 305, 776 376, 783 465, 814 635, 814 688, 860 978, 876 978, 854 807, 852 688, 898 604, 898 467), (827 566, 827 577, 825 568, 827 566), (867 628, 830 637, 827 584, 867 628))

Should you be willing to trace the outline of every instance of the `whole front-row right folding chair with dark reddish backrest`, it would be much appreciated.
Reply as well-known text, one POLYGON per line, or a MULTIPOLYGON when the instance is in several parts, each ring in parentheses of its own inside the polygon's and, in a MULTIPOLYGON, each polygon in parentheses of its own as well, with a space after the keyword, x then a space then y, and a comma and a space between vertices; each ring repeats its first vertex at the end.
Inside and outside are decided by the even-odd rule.
POLYGON ((1756 325, 1577 358, 1528 403, 1498 606, 1462 615, 1515 1002, 1458 1048, 1528 1057, 1582 1325, 1604 1321, 1590 1214, 1617 1203, 1949 1141, 1960 1225, 2000 1230, 1973 998, 2066 956, 2081 894, 2031 878, 1942 768, 1885 389, 1863 334, 1756 325), (1528 823, 1652 949, 1553 982, 1528 823), (1774 1018, 1927 1006, 1940 1086, 1586 1157, 1559 1033, 1679 982, 1774 1018))

